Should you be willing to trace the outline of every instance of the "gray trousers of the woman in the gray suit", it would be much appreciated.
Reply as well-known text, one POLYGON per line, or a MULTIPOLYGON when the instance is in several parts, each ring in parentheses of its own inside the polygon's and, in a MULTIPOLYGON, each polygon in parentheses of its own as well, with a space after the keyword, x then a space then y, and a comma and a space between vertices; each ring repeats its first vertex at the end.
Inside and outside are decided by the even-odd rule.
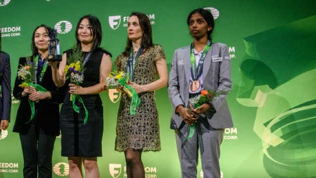
POLYGON ((203 178, 220 178, 219 157, 224 129, 213 129, 205 118, 200 118, 196 123, 194 135, 186 139, 189 132, 190 126, 184 122, 175 130, 182 178, 197 178, 198 150, 203 178))

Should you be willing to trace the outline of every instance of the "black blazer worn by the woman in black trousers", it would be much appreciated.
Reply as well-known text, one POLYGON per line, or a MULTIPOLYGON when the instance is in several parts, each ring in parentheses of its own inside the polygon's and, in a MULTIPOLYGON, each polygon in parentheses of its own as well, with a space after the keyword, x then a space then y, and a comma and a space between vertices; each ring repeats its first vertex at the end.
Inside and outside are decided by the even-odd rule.
MULTIPOLYGON (((32 61, 34 56, 32 56, 32 61)), ((19 60, 19 66, 25 65, 26 57, 21 57, 19 60)), ((45 74, 43 76, 41 87, 50 91, 51 99, 43 99, 39 102, 35 102, 35 115, 33 121, 27 123, 31 118, 31 107, 29 104, 29 96, 22 97, 23 88, 19 85, 23 80, 16 77, 13 89, 13 96, 20 100, 20 106, 16 114, 16 120, 13 126, 13 132, 25 134, 30 129, 31 123, 36 123, 45 134, 59 135, 59 103, 63 102, 68 86, 57 88, 52 79, 51 67, 47 66, 45 74)))

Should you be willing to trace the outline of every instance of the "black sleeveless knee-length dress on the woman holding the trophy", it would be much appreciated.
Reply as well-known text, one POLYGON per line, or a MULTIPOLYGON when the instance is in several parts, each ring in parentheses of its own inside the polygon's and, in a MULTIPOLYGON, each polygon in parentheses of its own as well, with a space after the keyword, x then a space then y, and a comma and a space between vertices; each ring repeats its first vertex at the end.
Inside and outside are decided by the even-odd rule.
MULTIPOLYGON (((72 50, 66 51, 67 57, 72 50)), ((91 87, 99 83, 100 64, 104 53, 110 54, 104 49, 96 49, 84 65, 84 81, 81 87, 91 87)), ((85 53, 86 55, 87 53, 85 53)), ((111 56, 111 54, 110 54, 111 56)), ((68 85, 66 82, 65 85, 68 85)), ((88 111, 88 119, 85 124, 85 110, 83 105, 76 100, 79 113, 73 109, 70 93, 67 92, 60 114, 61 129, 61 155, 67 157, 99 157, 102 156, 103 135, 103 106, 99 94, 80 95, 85 108, 88 111)))

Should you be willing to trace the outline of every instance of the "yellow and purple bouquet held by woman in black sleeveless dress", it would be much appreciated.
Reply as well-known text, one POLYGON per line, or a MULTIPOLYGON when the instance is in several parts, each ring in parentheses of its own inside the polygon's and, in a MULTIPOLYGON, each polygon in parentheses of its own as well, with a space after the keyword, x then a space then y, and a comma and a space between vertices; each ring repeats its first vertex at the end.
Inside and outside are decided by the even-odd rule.
POLYGON ((66 80, 70 78, 70 83, 79 85, 83 82, 83 53, 79 46, 74 45, 73 53, 67 58, 67 64, 64 71, 66 80))

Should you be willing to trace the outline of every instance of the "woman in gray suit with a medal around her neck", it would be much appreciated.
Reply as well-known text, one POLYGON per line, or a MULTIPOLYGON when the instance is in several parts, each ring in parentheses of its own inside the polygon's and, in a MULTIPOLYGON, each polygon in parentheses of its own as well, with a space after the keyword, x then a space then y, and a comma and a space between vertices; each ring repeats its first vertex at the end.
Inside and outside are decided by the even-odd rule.
POLYGON ((193 108, 189 98, 202 89, 231 90, 231 58, 227 45, 212 43, 214 18, 209 11, 193 10, 187 23, 194 39, 173 55, 168 82, 174 108, 170 128, 176 133, 182 178, 197 177, 198 150, 203 177, 220 178, 220 144, 224 129, 233 127, 226 95, 197 108, 193 108))

